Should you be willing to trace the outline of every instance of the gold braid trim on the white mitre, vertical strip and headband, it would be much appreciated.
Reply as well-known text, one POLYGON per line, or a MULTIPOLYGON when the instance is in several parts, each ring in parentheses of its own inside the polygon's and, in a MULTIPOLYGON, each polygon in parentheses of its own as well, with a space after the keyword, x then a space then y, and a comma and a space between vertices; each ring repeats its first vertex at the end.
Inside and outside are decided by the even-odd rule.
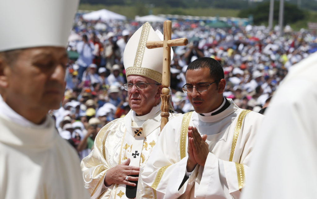
POLYGON ((146 48, 146 42, 149 38, 151 25, 149 22, 146 22, 142 26, 142 32, 139 39, 139 44, 137 48, 137 52, 135 53, 134 57, 134 63, 132 67, 126 68, 126 76, 129 75, 142 75, 145 77, 148 77, 152 80, 155 80, 159 83, 162 82, 162 74, 156 70, 153 70, 151 68, 141 67, 144 51, 146 48))

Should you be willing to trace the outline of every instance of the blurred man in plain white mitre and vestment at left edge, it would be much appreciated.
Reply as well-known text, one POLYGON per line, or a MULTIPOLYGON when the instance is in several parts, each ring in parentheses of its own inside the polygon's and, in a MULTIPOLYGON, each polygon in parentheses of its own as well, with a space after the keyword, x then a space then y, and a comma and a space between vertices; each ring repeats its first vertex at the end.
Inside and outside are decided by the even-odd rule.
POLYGON ((49 116, 64 96, 78 0, 0 2, 0 198, 88 198, 49 116))

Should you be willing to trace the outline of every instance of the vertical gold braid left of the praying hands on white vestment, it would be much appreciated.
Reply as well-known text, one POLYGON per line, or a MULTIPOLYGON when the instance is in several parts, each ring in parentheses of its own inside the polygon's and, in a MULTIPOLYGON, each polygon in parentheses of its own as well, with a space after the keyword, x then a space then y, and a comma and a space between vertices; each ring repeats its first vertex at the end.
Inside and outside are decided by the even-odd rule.
POLYGON ((182 127, 180 130, 180 138, 179 138, 179 152, 180 152, 180 159, 186 157, 186 137, 188 132, 188 125, 191 119, 191 114, 193 112, 187 112, 184 114, 182 127))

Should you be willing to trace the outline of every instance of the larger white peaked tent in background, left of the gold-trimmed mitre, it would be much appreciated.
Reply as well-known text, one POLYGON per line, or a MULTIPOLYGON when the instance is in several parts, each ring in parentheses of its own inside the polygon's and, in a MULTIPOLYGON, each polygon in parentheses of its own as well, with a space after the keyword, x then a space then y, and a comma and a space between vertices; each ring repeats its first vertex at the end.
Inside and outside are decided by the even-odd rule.
POLYGON ((126 16, 117 14, 115 12, 102 9, 93 11, 87 14, 82 15, 83 19, 85 20, 99 20, 101 21, 109 21, 109 20, 126 20, 126 16))

